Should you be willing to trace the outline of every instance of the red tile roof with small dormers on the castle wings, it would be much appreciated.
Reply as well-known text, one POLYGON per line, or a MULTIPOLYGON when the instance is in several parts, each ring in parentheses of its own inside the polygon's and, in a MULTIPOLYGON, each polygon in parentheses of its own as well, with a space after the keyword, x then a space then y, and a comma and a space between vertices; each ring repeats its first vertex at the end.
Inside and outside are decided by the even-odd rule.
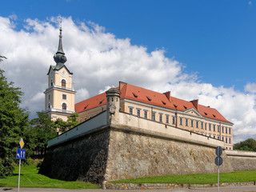
MULTIPOLYGON (((214 108, 210 108, 208 106, 197 105, 198 101, 187 102, 185 100, 170 97, 168 99, 167 94, 161 94, 155 92, 153 90, 146 90, 142 87, 132 86, 127 83, 120 82, 121 87, 121 95, 120 99, 126 98, 130 100, 134 100, 137 102, 143 102, 154 106, 161 106, 171 110, 179 110, 179 111, 186 111, 193 108, 197 110, 199 114, 203 117, 211 118, 214 120, 222 121, 222 122, 229 122, 214 108)), ((119 89, 118 87, 118 89, 119 89)), ((106 104, 106 93, 98 94, 92 98, 88 98, 82 102, 78 102, 74 105, 75 110, 77 113, 81 113, 82 111, 90 110, 98 106, 103 106, 106 104)), ((232 122, 229 122, 232 123, 232 122)))

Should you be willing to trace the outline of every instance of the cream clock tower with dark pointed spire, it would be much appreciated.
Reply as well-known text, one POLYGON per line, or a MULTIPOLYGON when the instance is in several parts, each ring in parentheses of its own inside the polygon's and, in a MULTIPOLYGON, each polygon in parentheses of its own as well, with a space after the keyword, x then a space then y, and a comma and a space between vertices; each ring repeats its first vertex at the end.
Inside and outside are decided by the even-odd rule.
POLYGON ((55 66, 48 71, 48 87, 45 90, 45 112, 52 120, 62 118, 67 120, 74 113, 74 88, 72 87, 72 74, 64 65, 66 56, 62 48, 62 26, 60 26, 58 51, 54 55, 55 66))

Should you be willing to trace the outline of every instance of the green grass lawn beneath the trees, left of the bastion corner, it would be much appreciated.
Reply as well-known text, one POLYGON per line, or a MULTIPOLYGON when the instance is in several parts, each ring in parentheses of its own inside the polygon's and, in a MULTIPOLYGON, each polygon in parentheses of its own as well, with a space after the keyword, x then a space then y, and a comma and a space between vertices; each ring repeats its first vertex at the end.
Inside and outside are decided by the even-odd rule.
MULTIPOLYGON (((18 187, 18 166, 15 166, 14 176, 0 177, 0 187, 18 187)), ((20 187, 62 188, 62 189, 99 189, 99 186, 88 182, 66 182, 51 179, 38 174, 36 165, 21 167, 20 187)))

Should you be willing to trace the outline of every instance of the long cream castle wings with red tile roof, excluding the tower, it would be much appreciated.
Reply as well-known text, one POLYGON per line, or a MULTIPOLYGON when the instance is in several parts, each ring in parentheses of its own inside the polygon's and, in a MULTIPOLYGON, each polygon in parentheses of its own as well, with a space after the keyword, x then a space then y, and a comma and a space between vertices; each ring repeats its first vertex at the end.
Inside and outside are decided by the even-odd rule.
MULTIPOLYGON (((198 100, 187 102, 174 98, 170 91, 161 94, 126 82, 119 82, 118 90, 121 91, 120 111, 222 140, 227 150, 233 150, 233 123, 218 110, 202 106, 198 100)), ((78 102, 74 108, 78 121, 84 122, 106 110, 106 93, 78 102)))

